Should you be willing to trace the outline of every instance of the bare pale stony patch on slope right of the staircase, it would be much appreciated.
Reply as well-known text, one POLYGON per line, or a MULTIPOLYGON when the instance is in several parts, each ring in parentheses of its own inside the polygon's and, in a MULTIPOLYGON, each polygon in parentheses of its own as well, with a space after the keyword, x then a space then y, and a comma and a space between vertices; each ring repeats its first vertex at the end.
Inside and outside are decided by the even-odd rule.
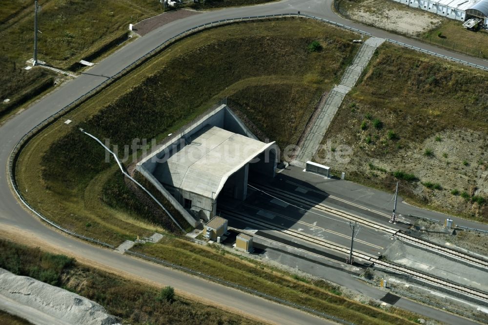
MULTIPOLYGON (((356 171, 371 178, 372 183, 395 182, 390 173, 401 168, 411 172, 419 182, 405 184, 400 190, 410 193, 421 202, 441 211, 458 215, 478 215, 488 221, 488 206, 472 200, 473 196, 488 197, 488 136, 467 129, 445 130, 428 137, 424 142, 409 143, 397 152, 383 157, 368 157, 364 143, 347 141, 350 130, 331 134, 332 146, 346 144, 352 148, 350 160, 325 161, 338 172, 356 171), (426 154, 426 150, 431 152, 426 154), (427 182, 439 184, 428 188, 427 182)), ((400 135, 401 137, 401 135, 400 135)))

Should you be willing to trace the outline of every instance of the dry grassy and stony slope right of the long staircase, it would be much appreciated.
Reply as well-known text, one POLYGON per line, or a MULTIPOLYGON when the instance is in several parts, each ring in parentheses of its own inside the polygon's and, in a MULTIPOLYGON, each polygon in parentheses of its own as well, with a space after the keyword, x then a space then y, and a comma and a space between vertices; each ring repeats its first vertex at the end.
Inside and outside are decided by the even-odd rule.
POLYGON ((384 44, 325 135, 353 147, 352 160, 330 164, 382 189, 399 180, 419 204, 486 222, 487 94, 483 71, 384 44))

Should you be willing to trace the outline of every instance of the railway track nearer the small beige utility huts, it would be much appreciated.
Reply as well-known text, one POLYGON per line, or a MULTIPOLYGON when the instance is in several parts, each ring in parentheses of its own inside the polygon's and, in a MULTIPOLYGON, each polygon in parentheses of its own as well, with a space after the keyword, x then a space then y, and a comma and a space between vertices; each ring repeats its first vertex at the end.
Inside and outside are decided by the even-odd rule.
MULTIPOLYGON (((333 250, 336 252, 340 252, 340 253, 343 253, 346 255, 348 255, 350 253, 350 249, 348 247, 344 247, 344 246, 341 246, 338 244, 330 243, 330 242, 325 241, 322 238, 319 238, 319 237, 316 237, 313 235, 308 235, 308 234, 305 234, 305 233, 302 233, 302 232, 299 232, 299 231, 296 231, 293 229, 287 229, 286 227, 281 226, 279 224, 270 223, 270 222, 267 222, 267 221, 264 221, 261 219, 257 219, 257 218, 251 217, 251 216, 244 215, 244 214, 239 213, 239 212, 226 210, 225 208, 224 209, 220 208, 220 211, 221 211, 222 215, 224 215, 224 216, 242 221, 246 224, 253 224, 255 226, 259 226, 259 227, 263 228, 263 230, 279 231, 279 232, 284 233, 284 234, 291 236, 293 238, 302 240, 306 243, 318 245, 322 248, 327 248, 327 249, 330 249, 330 250, 333 250)), ((238 228, 233 228, 233 229, 240 231, 240 232, 243 232, 243 233, 246 233, 246 234, 251 235, 251 236, 256 236, 253 232, 249 232, 249 231, 246 231, 244 229, 238 229, 238 228)), ((265 237, 263 237, 263 238, 266 240, 269 240, 265 237)), ((274 241, 274 242, 280 243, 278 241, 274 241)), ((317 255, 317 254, 315 254, 315 255, 317 255)), ((478 300, 482 300, 484 302, 488 302, 488 294, 483 292, 483 291, 479 291, 479 290, 476 290, 476 289, 473 289, 473 288, 470 288, 470 287, 467 287, 467 286, 464 286, 461 284, 456 284, 456 283, 449 282, 449 281, 446 281, 443 279, 439 279, 439 278, 434 277, 432 275, 429 275, 429 274, 426 274, 426 273, 423 273, 420 271, 412 270, 412 269, 407 268, 407 267, 402 266, 402 265, 383 261, 383 260, 380 260, 378 257, 373 256, 373 255, 367 255, 364 253, 359 253, 359 252, 354 252, 354 251, 353 251, 352 255, 355 257, 355 259, 361 259, 361 260, 365 261, 366 263, 374 264, 376 266, 381 266, 381 267, 386 268, 388 270, 392 270, 396 273, 408 275, 414 279, 426 282, 428 284, 441 286, 443 288, 449 289, 449 290, 457 292, 457 293, 461 293, 461 294, 466 295, 468 297, 472 297, 472 298, 476 298, 478 300)))

